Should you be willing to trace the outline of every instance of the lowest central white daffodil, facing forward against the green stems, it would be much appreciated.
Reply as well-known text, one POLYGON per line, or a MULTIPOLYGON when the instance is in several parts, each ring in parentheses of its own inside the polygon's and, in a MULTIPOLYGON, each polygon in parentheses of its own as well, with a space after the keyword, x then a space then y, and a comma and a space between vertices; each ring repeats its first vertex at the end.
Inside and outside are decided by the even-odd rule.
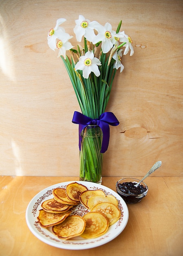
POLYGON ((79 61, 75 65, 75 70, 83 70, 83 77, 87 79, 91 72, 95 76, 100 75, 98 65, 101 65, 101 62, 98 58, 94 57, 93 52, 86 52, 84 56, 80 56, 79 61))

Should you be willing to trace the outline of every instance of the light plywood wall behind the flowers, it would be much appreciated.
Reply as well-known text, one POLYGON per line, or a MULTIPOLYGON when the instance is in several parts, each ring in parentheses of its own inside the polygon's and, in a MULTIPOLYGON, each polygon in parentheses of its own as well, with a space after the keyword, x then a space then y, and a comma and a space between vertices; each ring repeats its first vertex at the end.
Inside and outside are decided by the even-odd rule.
MULTIPOLYGON (((0 0, 0 175, 79 175, 80 111, 62 60, 47 45, 58 18, 110 22, 133 40, 134 55, 113 84, 104 176, 183 175, 182 0, 0 0)), ((75 36, 71 40, 76 45, 75 36)))

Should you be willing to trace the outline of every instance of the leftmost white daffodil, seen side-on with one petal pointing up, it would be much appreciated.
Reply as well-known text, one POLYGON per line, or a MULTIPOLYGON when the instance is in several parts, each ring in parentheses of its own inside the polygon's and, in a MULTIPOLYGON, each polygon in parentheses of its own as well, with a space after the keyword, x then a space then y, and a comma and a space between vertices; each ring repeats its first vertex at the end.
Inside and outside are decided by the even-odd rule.
POLYGON ((57 20, 56 22, 56 26, 54 27, 54 29, 50 29, 50 31, 48 32, 48 45, 49 47, 55 51, 56 47, 56 39, 59 38, 60 39, 60 35, 62 33, 65 33, 65 29, 63 27, 59 27, 59 25, 61 25, 64 21, 66 21, 66 19, 64 18, 60 18, 57 20))

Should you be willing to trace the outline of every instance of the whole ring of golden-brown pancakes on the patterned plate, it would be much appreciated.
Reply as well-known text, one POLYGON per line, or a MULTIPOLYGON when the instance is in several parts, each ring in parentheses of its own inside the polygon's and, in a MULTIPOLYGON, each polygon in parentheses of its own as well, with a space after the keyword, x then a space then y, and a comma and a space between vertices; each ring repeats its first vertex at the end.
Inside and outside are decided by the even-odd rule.
POLYGON ((66 189, 55 188, 52 193, 53 199, 42 203, 37 219, 42 227, 52 227, 53 233, 64 240, 101 236, 121 216, 117 199, 102 190, 88 190, 83 184, 72 182, 66 189), (71 215, 72 207, 80 203, 88 213, 83 217, 71 215))

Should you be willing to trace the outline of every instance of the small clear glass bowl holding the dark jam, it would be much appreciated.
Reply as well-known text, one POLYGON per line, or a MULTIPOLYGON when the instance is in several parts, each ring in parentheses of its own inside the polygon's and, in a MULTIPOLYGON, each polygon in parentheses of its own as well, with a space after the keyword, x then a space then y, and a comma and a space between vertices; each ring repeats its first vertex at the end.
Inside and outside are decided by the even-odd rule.
MULTIPOLYGON (((136 195, 132 195, 131 193, 124 193, 123 191, 121 191, 119 189, 119 184, 122 184, 125 186, 125 184, 123 184, 124 182, 134 182, 134 185, 137 184, 140 180, 138 179, 134 179, 134 178, 123 178, 121 180, 119 180, 116 183, 116 191, 117 193, 121 196, 121 198, 123 198, 123 200, 127 203, 130 204, 135 204, 137 202, 140 202, 148 193, 148 186, 146 185, 146 183, 141 182, 139 184, 139 186, 143 186, 145 188, 145 191, 143 193, 139 193, 136 195)), ((120 185, 121 186, 121 185, 120 185)))

